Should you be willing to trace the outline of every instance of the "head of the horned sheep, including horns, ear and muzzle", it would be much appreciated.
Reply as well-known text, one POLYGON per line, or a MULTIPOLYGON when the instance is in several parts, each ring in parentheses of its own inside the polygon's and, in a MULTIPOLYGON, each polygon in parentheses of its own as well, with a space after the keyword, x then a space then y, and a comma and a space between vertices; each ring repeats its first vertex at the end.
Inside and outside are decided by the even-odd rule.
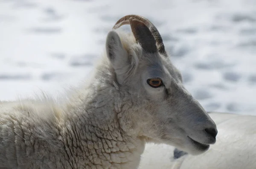
POLYGON ((120 115, 124 131, 194 155, 215 144, 214 121, 183 86, 180 71, 172 64, 160 33, 148 19, 127 15, 118 20, 108 33, 106 53, 113 81, 120 92, 126 92, 124 100, 129 98, 132 102, 120 115), (120 38, 122 34, 115 30, 126 24, 131 26, 134 41, 120 38))

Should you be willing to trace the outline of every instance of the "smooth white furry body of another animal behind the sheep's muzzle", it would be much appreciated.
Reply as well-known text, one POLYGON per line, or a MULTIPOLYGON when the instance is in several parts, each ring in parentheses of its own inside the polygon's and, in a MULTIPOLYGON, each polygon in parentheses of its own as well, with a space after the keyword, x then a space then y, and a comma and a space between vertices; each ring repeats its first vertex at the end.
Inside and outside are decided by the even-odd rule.
POLYGON ((140 169, 256 169, 256 116, 210 113, 217 142, 198 156, 173 158, 174 147, 147 144, 140 169))

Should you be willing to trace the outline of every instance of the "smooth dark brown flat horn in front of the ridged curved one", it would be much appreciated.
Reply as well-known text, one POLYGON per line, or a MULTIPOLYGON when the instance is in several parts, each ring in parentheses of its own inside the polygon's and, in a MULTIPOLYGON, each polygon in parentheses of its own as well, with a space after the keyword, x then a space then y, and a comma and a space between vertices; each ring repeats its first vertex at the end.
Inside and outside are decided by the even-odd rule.
POLYGON ((134 17, 129 19, 129 23, 131 25, 131 31, 134 34, 136 41, 140 43, 143 50, 148 53, 156 53, 156 41, 148 26, 134 17))

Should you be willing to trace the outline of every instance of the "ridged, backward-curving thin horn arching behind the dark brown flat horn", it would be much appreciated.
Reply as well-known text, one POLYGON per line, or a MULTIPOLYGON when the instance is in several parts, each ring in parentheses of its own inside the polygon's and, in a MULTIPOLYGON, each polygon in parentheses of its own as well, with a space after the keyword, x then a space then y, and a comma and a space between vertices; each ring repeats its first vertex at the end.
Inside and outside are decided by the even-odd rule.
POLYGON ((158 52, 160 54, 163 54, 164 56, 167 56, 166 54, 166 51, 165 51, 165 47, 163 45, 163 39, 160 35, 160 33, 158 32, 157 28, 154 26, 153 23, 151 23, 147 18, 145 17, 142 17, 140 15, 126 15, 124 17, 122 17, 121 19, 119 19, 116 24, 113 26, 113 29, 117 29, 119 28, 120 26, 122 25, 127 25, 129 24, 129 18, 131 17, 134 17, 136 18, 137 20, 140 20, 142 21, 143 23, 145 23, 145 25, 148 26, 148 28, 150 29, 151 31, 151 34, 154 36, 154 39, 156 41, 156 45, 157 45, 157 49, 158 49, 158 52))

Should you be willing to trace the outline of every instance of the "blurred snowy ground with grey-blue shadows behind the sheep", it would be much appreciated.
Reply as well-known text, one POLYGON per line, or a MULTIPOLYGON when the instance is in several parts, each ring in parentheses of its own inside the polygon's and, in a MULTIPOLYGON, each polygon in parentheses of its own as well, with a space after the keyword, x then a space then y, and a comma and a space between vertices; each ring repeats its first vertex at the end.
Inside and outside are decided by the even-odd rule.
POLYGON ((0 100, 86 81, 126 14, 157 26, 206 110, 256 115, 256 0, 0 0, 0 100))

